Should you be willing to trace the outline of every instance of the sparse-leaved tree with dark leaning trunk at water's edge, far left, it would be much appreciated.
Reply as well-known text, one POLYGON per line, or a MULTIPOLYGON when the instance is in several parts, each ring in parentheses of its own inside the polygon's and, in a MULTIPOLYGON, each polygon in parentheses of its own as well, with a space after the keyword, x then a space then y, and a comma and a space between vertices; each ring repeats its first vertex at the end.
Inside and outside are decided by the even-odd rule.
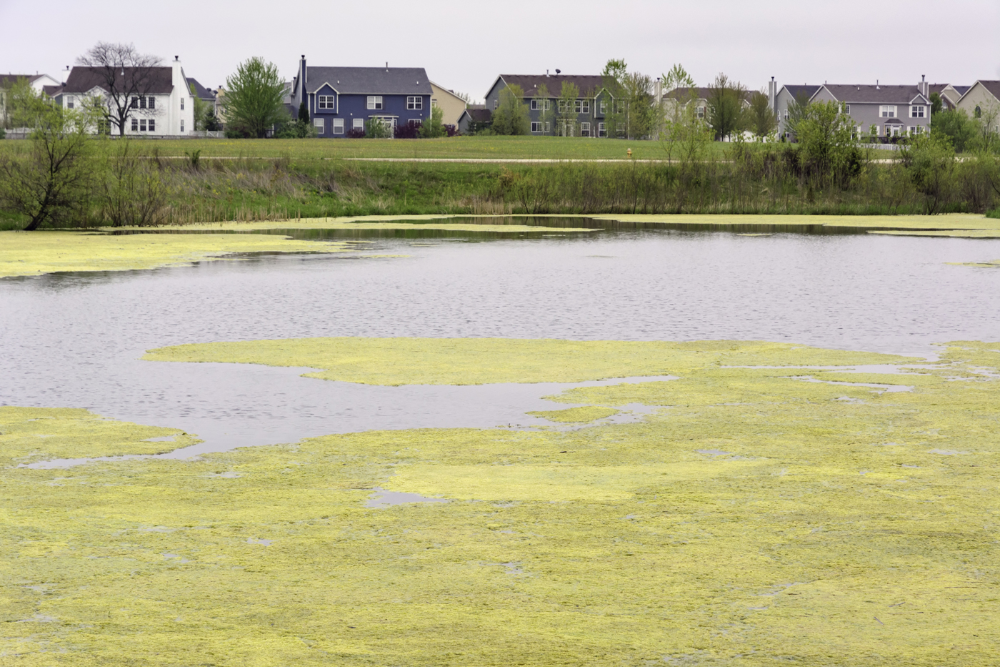
POLYGON ((88 128, 95 112, 65 110, 27 81, 10 92, 17 120, 30 127, 27 155, 0 156, 0 204, 28 217, 25 230, 77 212, 90 198, 95 169, 88 128))

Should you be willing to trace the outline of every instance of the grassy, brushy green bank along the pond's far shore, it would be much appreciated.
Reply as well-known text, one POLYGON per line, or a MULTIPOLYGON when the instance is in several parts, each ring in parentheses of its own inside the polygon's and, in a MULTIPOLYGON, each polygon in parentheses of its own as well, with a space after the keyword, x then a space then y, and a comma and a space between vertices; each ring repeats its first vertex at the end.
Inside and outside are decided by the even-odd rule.
MULTIPOLYGON (((557 142, 566 142, 561 153, 553 154, 567 160, 590 150, 586 147, 590 143, 600 144, 595 150, 608 143, 553 138, 531 152, 524 142, 511 144, 517 149, 510 150, 508 142, 500 140, 507 138, 443 141, 454 141, 459 149, 495 148, 497 154, 524 158, 542 157, 546 150, 556 151, 557 142)), ((32 141, 36 140, 3 142, 0 162, 11 173, 35 173, 32 169, 44 160, 30 149, 32 141), (19 147, 9 149, 11 143, 19 147)), ((411 143, 360 141, 367 141, 366 146, 400 145, 393 149, 400 152, 411 143)), ((427 141, 412 140, 412 144, 423 146, 427 141)), ((88 142, 92 168, 69 188, 73 196, 40 211, 38 206, 12 204, 16 197, 8 193, 0 228, 420 214, 1000 215, 1000 158, 983 153, 956 159, 930 139, 915 140, 899 152, 879 151, 894 158, 888 163, 871 160, 865 151, 852 147, 836 159, 830 157, 830 165, 809 158, 800 146, 781 143, 716 142, 692 157, 680 146, 647 141, 642 142, 646 144, 642 151, 636 151, 635 160, 538 164, 344 159, 350 149, 332 159, 308 157, 332 150, 314 144, 336 143, 320 139, 298 140, 294 153, 282 148, 285 154, 277 157, 251 157, 249 152, 265 148, 244 150, 240 142, 220 141, 215 150, 228 151, 231 159, 203 159, 202 149, 177 159, 164 154, 176 152, 168 141, 88 142), (639 160, 657 153, 674 161, 639 160)), ((192 141, 192 147, 196 143, 192 141)), ((627 142, 613 143, 621 152, 627 142)))

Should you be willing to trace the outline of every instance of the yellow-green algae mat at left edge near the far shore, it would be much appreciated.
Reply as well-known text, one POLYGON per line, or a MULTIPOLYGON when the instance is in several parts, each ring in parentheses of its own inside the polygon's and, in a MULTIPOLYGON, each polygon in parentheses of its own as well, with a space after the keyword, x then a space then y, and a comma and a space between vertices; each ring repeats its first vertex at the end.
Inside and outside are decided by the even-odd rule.
POLYGON ((0 277, 57 271, 179 266, 240 252, 343 252, 345 242, 265 234, 121 234, 0 231, 0 277))

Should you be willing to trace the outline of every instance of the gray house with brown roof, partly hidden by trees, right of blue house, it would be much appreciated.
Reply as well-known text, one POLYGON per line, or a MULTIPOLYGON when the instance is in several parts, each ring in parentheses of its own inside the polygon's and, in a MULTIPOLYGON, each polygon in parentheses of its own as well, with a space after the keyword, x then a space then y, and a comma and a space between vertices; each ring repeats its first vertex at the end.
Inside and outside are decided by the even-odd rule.
MULTIPOLYGON (((500 106, 500 91, 507 86, 520 86, 524 101, 528 105, 531 133, 535 135, 562 135, 557 127, 560 93, 563 82, 575 84, 580 96, 573 101, 576 122, 567 126, 566 132, 579 136, 608 136, 604 117, 610 111, 611 95, 604 89, 604 79, 597 75, 568 74, 501 74, 486 93, 486 108, 491 112, 500 106), (548 91, 542 94, 542 87, 548 91), (542 120, 542 114, 549 111, 551 120, 542 120)), ((613 128, 612 128, 613 129, 613 128)), ((612 132, 613 133, 613 132, 612 132)))

